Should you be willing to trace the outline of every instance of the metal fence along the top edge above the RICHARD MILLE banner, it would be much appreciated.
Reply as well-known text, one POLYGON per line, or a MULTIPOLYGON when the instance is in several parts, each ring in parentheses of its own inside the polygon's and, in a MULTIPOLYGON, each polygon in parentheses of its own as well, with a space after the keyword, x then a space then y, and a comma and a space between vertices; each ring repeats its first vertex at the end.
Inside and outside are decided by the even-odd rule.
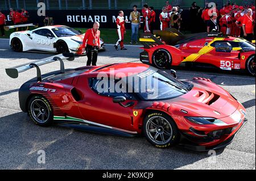
MULTIPOLYGON (((198 6, 203 7, 205 2, 211 2, 210 0, 193 0, 197 2, 198 6)), ((171 5, 180 5, 183 9, 191 6, 193 1, 189 0, 170 0, 171 5)), ((14 9, 25 8, 27 10, 38 9, 39 2, 46 4, 47 10, 81 10, 81 9, 132 9, 133 5, 137 5, 139 9, 142 8, 144 3, 149 6, 153 6, 155 9, 162 9, 165 5, 165 0, 0 0, 0 9, 8 10, 10 7, 14 9)), ((219 7, 223 5, 223 2, 227 1, 218 0, 219 7)), ((250 4, 255 3, 254 0, 236 0, 231 1, 237 4, 250 4)))

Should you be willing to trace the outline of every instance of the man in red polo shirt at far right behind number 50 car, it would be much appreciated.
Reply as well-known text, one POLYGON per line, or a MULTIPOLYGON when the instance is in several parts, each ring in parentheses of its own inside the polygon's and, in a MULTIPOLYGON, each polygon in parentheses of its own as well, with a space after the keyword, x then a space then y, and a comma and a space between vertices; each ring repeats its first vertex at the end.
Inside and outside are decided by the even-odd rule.
POLYGON ((247 14, 245 14, 243 21, 242 21, 242 26, 243 26, 243 37, 250 41, 253 40, 253 16, 251 14, 252 10, 248 9, 247 14))

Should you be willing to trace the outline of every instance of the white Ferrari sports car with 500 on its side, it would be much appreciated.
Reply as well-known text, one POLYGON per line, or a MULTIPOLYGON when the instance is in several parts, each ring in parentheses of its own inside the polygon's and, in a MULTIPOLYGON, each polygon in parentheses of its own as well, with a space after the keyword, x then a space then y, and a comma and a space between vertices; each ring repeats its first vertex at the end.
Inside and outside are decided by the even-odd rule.
MULTIPOLYGON (((84 34, 67 26, 46 26, 32 31, 11 33, 10 46, 15 52, 34 51, 51 53, 86 54, 81 49, 84 34)), ((105 50, 101 39, 101 48, 105 50)))

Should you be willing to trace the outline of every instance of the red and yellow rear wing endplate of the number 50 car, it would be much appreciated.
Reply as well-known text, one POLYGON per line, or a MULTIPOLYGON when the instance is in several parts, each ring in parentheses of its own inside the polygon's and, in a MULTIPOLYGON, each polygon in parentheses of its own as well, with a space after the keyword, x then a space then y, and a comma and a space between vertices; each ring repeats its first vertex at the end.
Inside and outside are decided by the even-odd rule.
POLYGON ((139 38, 139 41, 141 41, 144 48, 148 49, 151 47, 155 47, 157 45, 163 45, 164 43, 160 41, 157 37, 152 35, 150 32, 145 32, 141 34, 141 37, 139 38))

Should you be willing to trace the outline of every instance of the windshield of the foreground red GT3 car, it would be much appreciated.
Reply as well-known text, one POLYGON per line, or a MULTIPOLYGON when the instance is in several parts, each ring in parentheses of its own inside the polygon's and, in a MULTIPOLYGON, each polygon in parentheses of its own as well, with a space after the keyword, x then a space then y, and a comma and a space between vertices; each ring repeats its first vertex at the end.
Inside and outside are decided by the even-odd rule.
MULTIPOLYGON (((134 77, 133 91, 142 100, 165 100, 186 94, 192 88, 170 74, 150 68, 134 77)), ((130 83, 131 81, 129 81, 130 83)))

